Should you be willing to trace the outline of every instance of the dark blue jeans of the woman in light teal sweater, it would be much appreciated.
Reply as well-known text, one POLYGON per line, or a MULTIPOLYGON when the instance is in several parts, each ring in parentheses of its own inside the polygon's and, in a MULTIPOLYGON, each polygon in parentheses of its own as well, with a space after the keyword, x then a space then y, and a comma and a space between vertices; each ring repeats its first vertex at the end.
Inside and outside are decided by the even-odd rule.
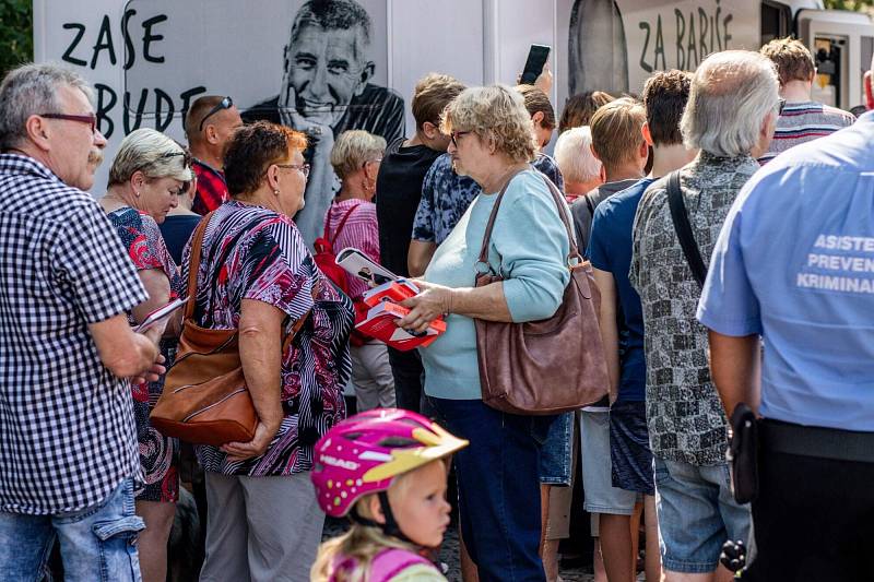
POLYGON ((470 446, 454 455, 459 518, 480 582, 544 582, 540 449, 554 416, 518 416, 481 400, 428 397, 438 421, 470 446))

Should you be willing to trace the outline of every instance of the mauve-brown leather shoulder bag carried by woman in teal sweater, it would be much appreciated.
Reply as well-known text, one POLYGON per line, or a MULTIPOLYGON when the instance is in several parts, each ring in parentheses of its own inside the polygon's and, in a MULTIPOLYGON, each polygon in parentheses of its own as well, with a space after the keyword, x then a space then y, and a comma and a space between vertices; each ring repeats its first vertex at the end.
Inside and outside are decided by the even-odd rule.
MULTIPOLYGON (((498 193, 488 217, 476 274, 482 287, 504 277, 488 263, 488 242, 500 201, 512 176, 498 193)), ((543 177, 567 230, 570 283, 555 314, 541 321, 511 323, 474 319, 483 402, 512 414, 550 415, 575 411, 607 393, 607 367, 598 325, 601 296, 592 266, 580 257, 558 188, 543 177)))

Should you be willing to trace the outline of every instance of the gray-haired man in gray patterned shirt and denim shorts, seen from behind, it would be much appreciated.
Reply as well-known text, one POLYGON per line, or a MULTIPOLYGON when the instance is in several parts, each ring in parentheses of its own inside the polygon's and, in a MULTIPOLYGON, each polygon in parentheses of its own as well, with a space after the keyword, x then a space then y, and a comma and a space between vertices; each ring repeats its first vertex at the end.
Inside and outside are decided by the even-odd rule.
MULTIPOLYGON (((737 192, 758 169, 780 109, 771 62, 748 51, 708 57, 695 72, 681 121, 700 153, 680 170, 694 240, 707 261, 737 192)), ((640 201, 629 280, 643 307, 647 426, 668 581, 728 580, 723 542, 746 539, 749 510, 734 502, 725 464, 728 427, 696 321, 701 289, 684 256, 662 178, 640 201)))

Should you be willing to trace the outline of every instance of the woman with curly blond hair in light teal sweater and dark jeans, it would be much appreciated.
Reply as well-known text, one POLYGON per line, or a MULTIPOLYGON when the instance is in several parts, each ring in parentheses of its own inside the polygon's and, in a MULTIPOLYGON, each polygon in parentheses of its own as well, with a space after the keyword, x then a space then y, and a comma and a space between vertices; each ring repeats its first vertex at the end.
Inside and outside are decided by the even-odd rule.
POLYGON ((538 555, 539 456, 554 417, 483 403, 474 318, 553 316, 570 280, 567 231, 543 176, 529 165, 536 143, 518 93, 500 85, 469 88, 447 107, 441 129, 451 136, 456 171, 483 191, 438 247, 422 293, 403 304, 412 311, 399 324, 421 331, 448 313, 446 333, 421 349, 425 393, 449 429, 471 443, 458 453, 456 468, 462 535, 481 582, 545 580, 538 555), (486 223, 505 186, 488 247, 492 269, 505 278, 474 287, 486 223))

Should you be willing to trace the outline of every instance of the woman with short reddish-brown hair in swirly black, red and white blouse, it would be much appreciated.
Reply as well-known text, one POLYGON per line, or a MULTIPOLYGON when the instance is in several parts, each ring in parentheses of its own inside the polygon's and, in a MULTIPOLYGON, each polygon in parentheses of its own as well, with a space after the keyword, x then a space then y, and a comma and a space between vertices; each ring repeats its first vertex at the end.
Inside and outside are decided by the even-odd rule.
MULTIPOLYGON (((282 126, 239 128, 224 157, 232 200, 210 215, 203 237, 189 300, 199 325, 239 330, 258 415, 250 442, 197 447, 209 506, 204 581, 299 578, 321 541, 324 514, 309 471, 316 441, 345 416, 353 312, 292 221, 304 205, 306 146, 304 134, 282 126)), ((184 276, 190 256, 189 244, 184 276)))

